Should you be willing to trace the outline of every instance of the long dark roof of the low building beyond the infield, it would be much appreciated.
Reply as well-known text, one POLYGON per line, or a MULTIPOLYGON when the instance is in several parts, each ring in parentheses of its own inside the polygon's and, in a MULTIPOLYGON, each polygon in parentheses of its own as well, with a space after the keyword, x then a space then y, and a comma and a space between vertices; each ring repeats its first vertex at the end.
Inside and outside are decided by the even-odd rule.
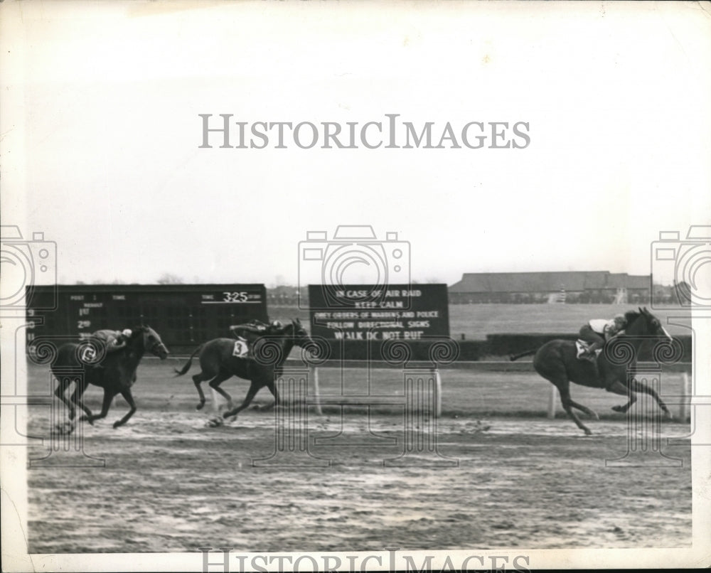
POLYGON ((630 277, 608 271, 466 272, 450 292, 555 292, 647 287, 649 277, 630 277), (630 280, 634 279, 634 280, 630 280))

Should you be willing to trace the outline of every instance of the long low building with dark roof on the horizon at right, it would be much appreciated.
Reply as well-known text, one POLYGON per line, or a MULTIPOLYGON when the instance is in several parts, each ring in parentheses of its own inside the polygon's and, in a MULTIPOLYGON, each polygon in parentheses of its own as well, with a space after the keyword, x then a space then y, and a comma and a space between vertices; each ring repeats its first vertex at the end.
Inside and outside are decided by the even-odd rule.
POLYGON ((449 302, 646 304, 650 284, 648 274, 608 271, 467 272, 449 287, 449 302))

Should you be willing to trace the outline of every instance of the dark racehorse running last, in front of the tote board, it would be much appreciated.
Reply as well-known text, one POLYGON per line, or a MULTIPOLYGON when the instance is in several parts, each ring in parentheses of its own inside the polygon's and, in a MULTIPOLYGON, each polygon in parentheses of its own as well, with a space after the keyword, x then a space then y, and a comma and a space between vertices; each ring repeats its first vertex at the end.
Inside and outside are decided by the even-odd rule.
POLYGON ((168 348, 161 341, 161 337, 150 326, 134 328, 126 346, 112 353, 107 353, 105 358, 97 365, 92 365, 82 360, 80 344, 66 343, 60 346, 50 369, 59 381, 54 394, 68 406, 69 419, 74 419, 76 406, 79 406, 85 413, 82 416, 82 421, 86 420, 93 424, 94 420, 105 418, 114 396, 120 393, 128 402, 130 409, 122 419, 114 422, 114 428, 128 422, 129 418, 136 412, 136 402, 134 402, 131 387, 136 382, 136 369, 146 350, 158 356, 161 360, 165 360, 169 355, 168 348), (71 401, 68 401, 65 397, 65 392, 71 380, 63 373, 63 369, 78 370, 82 368, 84 376, 77 382, 71 401), (101 413, 97 415, 92 414, 82 400, 82 395, 90 384, 104 389, 101 413))

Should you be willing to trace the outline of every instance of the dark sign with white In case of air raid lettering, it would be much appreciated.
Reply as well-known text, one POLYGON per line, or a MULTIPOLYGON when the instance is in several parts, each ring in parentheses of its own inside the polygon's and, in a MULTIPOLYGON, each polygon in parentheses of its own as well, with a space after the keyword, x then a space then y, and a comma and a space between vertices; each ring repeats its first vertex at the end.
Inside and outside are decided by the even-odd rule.
POLYGON ((449 336, 446 284, 309 284, 311 334, 328 340, 449 336))

